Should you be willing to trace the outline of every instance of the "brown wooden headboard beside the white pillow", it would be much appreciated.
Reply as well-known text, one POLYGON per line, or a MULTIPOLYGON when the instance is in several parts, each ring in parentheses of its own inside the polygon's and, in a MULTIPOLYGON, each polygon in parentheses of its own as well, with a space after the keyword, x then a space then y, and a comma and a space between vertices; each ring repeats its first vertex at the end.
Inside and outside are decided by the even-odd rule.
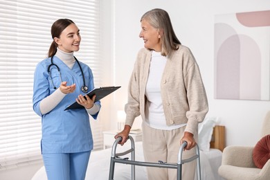
POLYGON ((216 125, 214 127, 210 148, 218 149, 223 152, 225 148, 225 126, 216 125))

